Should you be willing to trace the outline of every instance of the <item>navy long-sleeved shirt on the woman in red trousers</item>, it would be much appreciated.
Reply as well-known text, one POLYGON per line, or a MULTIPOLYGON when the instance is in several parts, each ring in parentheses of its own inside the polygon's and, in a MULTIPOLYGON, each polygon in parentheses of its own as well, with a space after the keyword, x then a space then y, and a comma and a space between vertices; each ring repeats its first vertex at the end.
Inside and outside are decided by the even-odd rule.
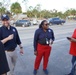
POLYGON ((39 28, 35 31, 34 35, 34 51, 37 50, 38 41, 47 37, 49 40, 55 40, 53 30, 48 28, 46 32, 42 28, 39 28))

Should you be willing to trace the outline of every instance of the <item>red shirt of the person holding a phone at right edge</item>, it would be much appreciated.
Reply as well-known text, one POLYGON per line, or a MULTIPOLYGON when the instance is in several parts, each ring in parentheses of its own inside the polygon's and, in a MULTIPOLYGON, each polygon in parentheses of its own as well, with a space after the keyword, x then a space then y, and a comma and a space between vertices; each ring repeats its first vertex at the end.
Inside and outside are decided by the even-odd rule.
MULTIPOLYGON (((74 30, 72 38, 76 39, 76 29, 74 30)), ((71 42, 71 44, 70 44, 70 52, 69 53, 71 55, 73 55, 73 56, 76 56, 76 42, 71 42)))

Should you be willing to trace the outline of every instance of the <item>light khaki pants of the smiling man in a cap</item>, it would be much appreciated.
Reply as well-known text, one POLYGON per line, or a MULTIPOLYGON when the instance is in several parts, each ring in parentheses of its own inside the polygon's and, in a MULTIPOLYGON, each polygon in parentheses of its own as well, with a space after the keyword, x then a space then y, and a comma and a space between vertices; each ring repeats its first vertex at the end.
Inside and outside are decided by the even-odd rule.
POLYGON ((15 65, 16 65, 16 60, 17 60, 17 51, 5 51, 6 53, 6 57, 7 57, 7 61, 8 61, 8 65, 10 68, 10 71, 7 73, 7 75, 14 75, 14 69, 15 69, 15 65))

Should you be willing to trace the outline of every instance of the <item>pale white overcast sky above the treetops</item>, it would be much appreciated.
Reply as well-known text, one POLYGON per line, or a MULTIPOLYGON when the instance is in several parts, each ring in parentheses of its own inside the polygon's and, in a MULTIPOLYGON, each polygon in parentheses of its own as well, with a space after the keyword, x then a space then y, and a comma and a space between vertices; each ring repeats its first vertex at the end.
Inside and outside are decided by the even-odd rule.
MULTIPOLYGON (((1 0, 0 0, 1 1, 1 0)), ((18 1, 22 10, 25 11, 25 5, 22 0, 9 0, 11 3, 18 1)), ((27 6, 35 7, 37 4, 41 5, 41 9, 52 10, 56 9, 58 11, 66 11, 67 9, 76 9, 76 0, 28 0, 27 6)))

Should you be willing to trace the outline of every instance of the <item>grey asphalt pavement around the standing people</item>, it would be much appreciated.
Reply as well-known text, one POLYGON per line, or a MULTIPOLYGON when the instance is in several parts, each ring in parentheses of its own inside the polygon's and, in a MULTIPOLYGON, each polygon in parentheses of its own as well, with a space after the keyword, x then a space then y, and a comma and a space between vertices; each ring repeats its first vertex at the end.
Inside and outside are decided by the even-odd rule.
MULTIPOLYGON (((37 26, 31 26, 27 28, 17 27, 19 35, 24 47, 24 55, 19 54, 15 67, 15 75, 33 75, 34 66, 34 49, 33 49, 33 36, 37 26)), ((69 55, 70 43, 66 39, 67 36, 71 36, 76 28, 76 22, 67 22, 64 25, 50 26, 54 30, 55 38, 52 46, 51 55, 49 58, 48 71, 49 75, 65 75, 70 72, 71 69, 71 55, 69 55)), ((45 75, 42 70, 42 63, 37 75, 45 75)))

